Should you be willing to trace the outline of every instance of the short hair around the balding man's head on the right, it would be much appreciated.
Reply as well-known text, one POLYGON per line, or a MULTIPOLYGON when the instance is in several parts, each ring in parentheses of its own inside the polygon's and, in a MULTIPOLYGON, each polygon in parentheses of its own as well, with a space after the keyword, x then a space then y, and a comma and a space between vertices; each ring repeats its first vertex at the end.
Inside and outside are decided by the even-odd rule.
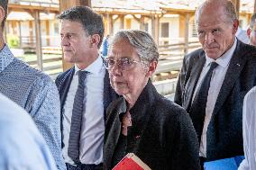
MULTIPOLYGON (((215 3, 217 3, 216 0, 214 0, 215 3)), ((195 13, 195 19, 196 19, 196 24, 198 24, 198 16, 202 13, 204 7, 206 5, 211 5, 210 3, 213 3, 213 0, 211 2, 211 0, 206 0, 206 2, 204 2, 203 4, 199 5, 199 7, 197 8, 197 11, 195 13)), ((237 13, 236 13, 236 10, 235 10, 235 7, 233 5, 233 3, 229 0, 221 0, 221 1, 218 1, 218 3, 221 3, 223 4, 224 6, 224 12, 225 12, 225 16, 226 16, 226 19, 227 21, 225 22, 234 22, 236 20, 238 20, 238 17, 237 17, 237 13)))

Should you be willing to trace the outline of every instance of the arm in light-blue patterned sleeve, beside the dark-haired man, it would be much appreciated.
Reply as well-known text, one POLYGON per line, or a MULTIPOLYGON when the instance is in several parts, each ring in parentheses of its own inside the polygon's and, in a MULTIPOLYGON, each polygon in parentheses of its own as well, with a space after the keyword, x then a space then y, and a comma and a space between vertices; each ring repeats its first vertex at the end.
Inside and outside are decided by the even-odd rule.
POLYGON ((34 82, 26 110, 46 140, 59 169, 66 169, 61 153, 60 103, 56 85, 48 76, 34 82))

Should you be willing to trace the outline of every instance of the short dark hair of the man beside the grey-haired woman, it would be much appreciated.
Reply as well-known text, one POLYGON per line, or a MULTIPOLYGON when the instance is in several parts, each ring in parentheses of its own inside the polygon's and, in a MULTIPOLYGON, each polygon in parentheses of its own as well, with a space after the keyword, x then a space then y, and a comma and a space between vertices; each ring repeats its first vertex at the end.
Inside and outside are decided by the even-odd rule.
POLYGON ((104 35, 104 24, 100 14, 95 13, 87 6, 76 6, 59 14, 58 19, 80 22, 88 35, 98 34, 100 41, 97 47, 100 48, 104 35))

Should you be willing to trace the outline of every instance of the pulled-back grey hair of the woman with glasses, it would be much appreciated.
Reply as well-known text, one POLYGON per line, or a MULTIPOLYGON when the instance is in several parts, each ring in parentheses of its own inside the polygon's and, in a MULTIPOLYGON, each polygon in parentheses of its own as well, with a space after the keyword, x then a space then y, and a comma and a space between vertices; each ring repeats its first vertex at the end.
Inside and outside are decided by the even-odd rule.
POLYGON ((128 40, 129 43, 136 49, 142 61, 150 63, 153 60, 158 60, 158 47, 151 35, 146 31, 140 30, 123 30, 114 34, 110 40, 109 47, 119 40, 128 40))

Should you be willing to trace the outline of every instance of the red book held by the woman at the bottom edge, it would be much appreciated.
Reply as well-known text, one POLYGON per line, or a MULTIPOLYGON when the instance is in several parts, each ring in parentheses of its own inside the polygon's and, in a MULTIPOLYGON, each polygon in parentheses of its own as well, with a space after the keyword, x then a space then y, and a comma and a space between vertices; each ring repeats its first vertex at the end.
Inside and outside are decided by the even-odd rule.
POLYGON ((151 170, 149 166, 133 153, 127 154, 112 170, 151 170))

